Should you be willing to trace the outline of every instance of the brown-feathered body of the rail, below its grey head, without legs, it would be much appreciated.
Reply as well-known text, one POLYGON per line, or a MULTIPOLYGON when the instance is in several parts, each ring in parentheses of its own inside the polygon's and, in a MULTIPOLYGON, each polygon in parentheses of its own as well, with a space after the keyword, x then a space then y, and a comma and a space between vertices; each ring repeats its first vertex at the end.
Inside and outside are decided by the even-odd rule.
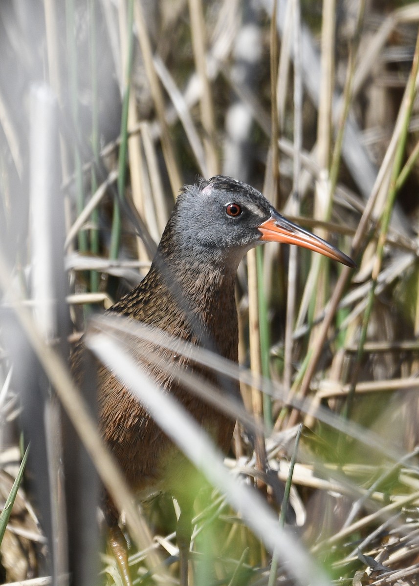
MULTIPOLYGON (((209 347, 222 357, 237 362, 236 267, 226 270, 214 264, 202 264, 197 258, 188 265, 177 267, 178 251, 171 248, 170 253, 160 257, 160 262, 165 264, 164 277, 156 263, 140 285, 109 311, 157 326, 175 338, 209 347), (212 299, 218 300, 217 305, 208 302, 212 299)), ((158 386, 183 404, 226 452, 234 421, 185 390, 178 381, 177 371, 192 371, 214 384, 221 393, 228 389, 229 394, 236 396, 239 396, 238 383, 224 381, 220 384, 220 377, 210 370, 157 345, 150 345, 149 350, 153 358, 144 358, 143 347, 138 362, 158 386), (164 361, 167 369, 161 369, 156 357, 164 361)), ((180 496, 177 494, 178 485, 184 485, 182 481, 187 466, 184 456, 136 398, 105 367, 99 372, 99 389, 99 420, 103 436, 126 473, 131 488, 140 498, 166 491, 180 496), (119 406, 117 410, 115 405, 119 406)))

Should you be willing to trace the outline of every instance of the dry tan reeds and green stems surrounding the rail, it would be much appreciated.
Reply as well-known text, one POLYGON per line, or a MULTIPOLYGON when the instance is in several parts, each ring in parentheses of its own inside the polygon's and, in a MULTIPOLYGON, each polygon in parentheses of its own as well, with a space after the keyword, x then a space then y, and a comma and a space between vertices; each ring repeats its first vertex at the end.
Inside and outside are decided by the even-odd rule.
POLYGON ((194 584, 417 584, 418 22, 396 0, 3 0, 1 583, 121 584, 101 482, 134 583, 177 581, 175 506, 134 504, 90 370, 80 389, 67 366, 93 323, 90 349, 201 469, 194 584), (100 317, 146 274, 181 185, 221 172, 359 265, 248 254, 241 367, 196 353, 241 380, 224 466, 130 362, 147 329, 100 317))

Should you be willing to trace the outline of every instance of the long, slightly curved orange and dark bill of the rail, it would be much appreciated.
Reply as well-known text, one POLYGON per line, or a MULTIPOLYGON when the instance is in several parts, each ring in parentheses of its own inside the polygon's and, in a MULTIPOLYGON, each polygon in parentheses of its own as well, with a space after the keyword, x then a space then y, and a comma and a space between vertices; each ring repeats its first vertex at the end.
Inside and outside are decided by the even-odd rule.
POLYGON ((290 222, 290 220, 287 220, 278 212, 272 211, 272 216, 269 220, 266 220, 266 222, 258 226, 258 229, 262 233, 261 240, 263 241, 296 244, 297 246, 309 248, 309 250, 314 250, 316 253, 333 258, 333 260, 337 260, 339 263, 346 264, 347 267, 356 268, 356 264, 352 258, 343 254, 339 248, 332 246, 332 244, 315 236, 315 234, 312 234, 308 230, 300 228, 300 226, 290 222))

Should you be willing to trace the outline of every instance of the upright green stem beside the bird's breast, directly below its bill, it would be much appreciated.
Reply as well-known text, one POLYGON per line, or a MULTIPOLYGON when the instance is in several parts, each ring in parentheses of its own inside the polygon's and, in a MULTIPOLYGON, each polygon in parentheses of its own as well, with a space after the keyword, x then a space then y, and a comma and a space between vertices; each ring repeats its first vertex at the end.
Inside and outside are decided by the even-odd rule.
MULTIPOLYGON (((256 273, 258 280, 258 309, 259 309, 259 342, 261 345, 261 370, 265 379, 270 378, 269 373, 269 326, 268 304, 263 288, 263 250, 261 246, 256 248, 256 273)), ((272 401, 266 393, 263 393, 263 420, 268 430, 272 429, 272 401)))

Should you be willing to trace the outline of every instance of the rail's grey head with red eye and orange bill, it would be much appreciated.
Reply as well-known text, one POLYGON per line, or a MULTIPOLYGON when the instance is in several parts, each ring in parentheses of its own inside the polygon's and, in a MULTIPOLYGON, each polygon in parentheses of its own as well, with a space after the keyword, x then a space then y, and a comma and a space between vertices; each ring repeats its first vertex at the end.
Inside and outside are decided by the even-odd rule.
POLYGON ((222 175, 183 188, 161 247, 175 247, 191 258, 238 261, 250 248, 269 241, 296 244, 356 266, 332 244, 281 216, 258 190, 222 175))

